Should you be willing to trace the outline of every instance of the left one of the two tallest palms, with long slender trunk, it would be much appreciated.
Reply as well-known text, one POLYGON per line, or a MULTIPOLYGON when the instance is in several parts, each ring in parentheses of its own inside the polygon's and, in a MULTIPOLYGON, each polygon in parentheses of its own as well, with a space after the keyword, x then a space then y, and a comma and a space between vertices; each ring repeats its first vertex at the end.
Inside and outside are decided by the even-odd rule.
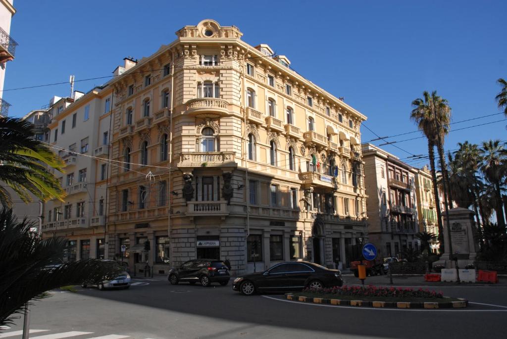
POLYGON ((414 120, 417 124, 419 130, 423 132, 423 134, 428 139, 428 158, 429 158, 429 167, 431 170, 431 180, 433 182, 433 195, 435 197, 435 206, 437 210, 437 222, 439 228, 439 243, 440 250, 444 251, 444 227, 442 224, 442 211, 440 209, 440 198, 437 186, 437 172, 435 169, 435 153, 434 147, 437 143, 437 130, 434 124, 434 115, 431 109, 432 102, 431 96, 428 92, 423 92, 424 99, 418 98, 412 101, 412 106, 414 109, 410 114, 410 119, 414 120))

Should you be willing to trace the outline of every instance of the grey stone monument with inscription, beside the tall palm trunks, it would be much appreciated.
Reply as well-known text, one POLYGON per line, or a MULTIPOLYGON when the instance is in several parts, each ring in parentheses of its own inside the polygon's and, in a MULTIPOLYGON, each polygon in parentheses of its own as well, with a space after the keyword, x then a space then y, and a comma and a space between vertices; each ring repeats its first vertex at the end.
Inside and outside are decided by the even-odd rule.
MULTIPOLYGON (((447 231, 447 218, 444 219, 444 244, 445 252, 440 260, 433 265, 444 265, 446 268, 455 268, 454 261, 451 261, 449 253, 449 236, 447 231)), ((451 226, 451 242, 453 256, 458 259, 458 266, 463 269, 466 265, 474 263, 479 250, 479 243, 475 237, 477 233, 474 212, 466 208, 456 207, 449 210, 449 224, 451 226)))

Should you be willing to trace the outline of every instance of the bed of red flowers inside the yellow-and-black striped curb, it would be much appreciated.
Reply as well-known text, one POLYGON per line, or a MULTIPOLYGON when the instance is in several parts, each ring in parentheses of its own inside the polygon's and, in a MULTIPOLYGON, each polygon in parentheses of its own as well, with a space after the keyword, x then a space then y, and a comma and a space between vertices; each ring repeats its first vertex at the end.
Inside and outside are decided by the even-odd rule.
POLYGON ((413 289, 413 288, 394 288, 372 286, 335 286, 331 288, 305 288, 303 293, 310 293, 316 295, 333 295, 339 296, 366 296, 366 297, 387 297, 387 298, 424 298, 424 299, 442 299, 444 295, 442 292, 430 291, 428 289, 413 289))

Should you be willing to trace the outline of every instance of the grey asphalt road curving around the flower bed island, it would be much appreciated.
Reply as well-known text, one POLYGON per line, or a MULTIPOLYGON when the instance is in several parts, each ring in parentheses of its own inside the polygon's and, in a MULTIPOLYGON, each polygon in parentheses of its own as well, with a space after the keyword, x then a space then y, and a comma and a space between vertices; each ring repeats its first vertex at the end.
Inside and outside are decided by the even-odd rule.
MULTIPOLYGON (((163 278, 160 278, 163 279, 163 278)), ((32 307, 30 337, 100 338, 424 338, 504 337, 507 287, 441 287, 466 297, 465 310, 391 310, 317 306, 281 295, 243 296, 228 286, 171 286, 165 280, 134 280, 129 290, 78 288, 56 292, 32 307), (43 331, 44 330, 44 331, 43 331), (62 333, 62 334, 59 334, 62 333)), ((358 283, 346 277, 346 283, 358 283)), ((21 329, 22 320, 0 338, 21 329)), ((20 336, 10 336, 19 338, 20 336)))

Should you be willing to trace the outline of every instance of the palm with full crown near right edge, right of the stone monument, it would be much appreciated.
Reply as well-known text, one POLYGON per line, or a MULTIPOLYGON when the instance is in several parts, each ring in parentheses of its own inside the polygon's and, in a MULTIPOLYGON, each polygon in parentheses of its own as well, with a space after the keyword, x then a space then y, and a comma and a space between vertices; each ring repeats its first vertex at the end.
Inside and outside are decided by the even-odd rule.
POLYGON ((504 145, 499 140, 489 140, 482 143, 481 155, 483 156, 483 162, 481 171, 485 179, 493 186, 493 196, 490 198, 492 198, 498 226, 501 228, 505 228, 501 198, 501 186, 507 176, 505 152, 504 145))

